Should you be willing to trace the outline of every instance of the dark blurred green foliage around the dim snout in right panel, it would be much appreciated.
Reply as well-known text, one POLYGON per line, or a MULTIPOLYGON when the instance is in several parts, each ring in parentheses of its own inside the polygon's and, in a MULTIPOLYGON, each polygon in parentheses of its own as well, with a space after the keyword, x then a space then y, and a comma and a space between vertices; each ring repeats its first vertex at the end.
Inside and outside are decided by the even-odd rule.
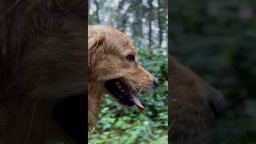
POLYGON ((170 2, 171 54, 230 103, 214 130, 194 143, 256 142, 255 6, 254 0, 170 2))

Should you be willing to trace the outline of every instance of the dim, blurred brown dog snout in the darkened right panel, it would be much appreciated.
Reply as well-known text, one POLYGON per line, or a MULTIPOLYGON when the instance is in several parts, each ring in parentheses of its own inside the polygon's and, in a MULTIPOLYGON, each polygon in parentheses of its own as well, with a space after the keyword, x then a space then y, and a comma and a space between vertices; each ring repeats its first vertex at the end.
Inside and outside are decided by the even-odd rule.
POLYGON ((198 138, 226 108, 223 95, 169 55, 169 140, 198 138))

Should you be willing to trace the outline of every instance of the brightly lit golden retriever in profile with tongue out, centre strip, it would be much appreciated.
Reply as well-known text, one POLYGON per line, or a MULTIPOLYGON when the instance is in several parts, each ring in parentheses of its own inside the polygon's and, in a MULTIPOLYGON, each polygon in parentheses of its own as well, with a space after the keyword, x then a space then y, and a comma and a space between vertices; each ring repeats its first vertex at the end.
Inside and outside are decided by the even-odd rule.
POLYGON ((137 50, 122 32, 106 26, 88 26, 88 127, 97 122, 102 94, 125 106, 144 110, 138 94, 151 92, 158 79, 138 63, 137 50))

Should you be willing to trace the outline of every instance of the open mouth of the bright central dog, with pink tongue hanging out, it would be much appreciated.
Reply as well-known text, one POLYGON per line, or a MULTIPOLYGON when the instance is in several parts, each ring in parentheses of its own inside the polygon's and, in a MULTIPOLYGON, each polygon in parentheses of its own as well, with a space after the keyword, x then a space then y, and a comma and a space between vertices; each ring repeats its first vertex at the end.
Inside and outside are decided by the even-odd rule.
POLYGON ((142 106, 142 103, 136 97, 135 92, 119 79, 111 79, 107 81, 105 83, 105 87, 110 94, 114 95, 114 97, 118 99, 118 102, 122 103, 123 105, 134 106, 135 104, 138 107, 138 110, 145 110, 145 107, 142 106))

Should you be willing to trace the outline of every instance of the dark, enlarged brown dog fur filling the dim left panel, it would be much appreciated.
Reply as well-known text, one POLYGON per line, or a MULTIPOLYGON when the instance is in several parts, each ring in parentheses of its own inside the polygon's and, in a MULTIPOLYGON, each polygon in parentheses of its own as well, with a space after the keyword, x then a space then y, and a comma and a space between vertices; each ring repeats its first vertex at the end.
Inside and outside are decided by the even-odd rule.
POLYGON ((0 0, 0 143, 86 143, 86 1, 0 0))

